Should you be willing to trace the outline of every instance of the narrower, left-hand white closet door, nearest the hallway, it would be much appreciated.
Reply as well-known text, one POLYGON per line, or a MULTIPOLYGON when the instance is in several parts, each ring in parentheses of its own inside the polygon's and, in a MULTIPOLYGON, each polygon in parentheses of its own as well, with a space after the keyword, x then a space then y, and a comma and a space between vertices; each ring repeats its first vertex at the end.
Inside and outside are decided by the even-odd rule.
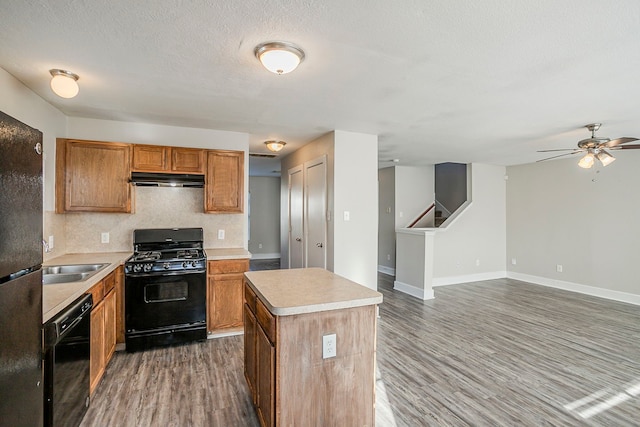
POLYGON ((304 267, 303 169, 289 169, 289 268, 304 267))

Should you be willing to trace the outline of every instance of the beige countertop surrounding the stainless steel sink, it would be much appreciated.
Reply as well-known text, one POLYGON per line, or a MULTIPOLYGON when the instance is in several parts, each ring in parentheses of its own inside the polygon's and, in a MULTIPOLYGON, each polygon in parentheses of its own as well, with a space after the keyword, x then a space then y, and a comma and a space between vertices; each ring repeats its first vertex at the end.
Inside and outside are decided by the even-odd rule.
POLYGON ((87 280, 81 282, 42 285, 42 322, 47 322, 93 285, 104 279, 131 256, 131 252, 101 252, 65 254, 47 260, 43 266, 67 264, 109 264, 87 280))

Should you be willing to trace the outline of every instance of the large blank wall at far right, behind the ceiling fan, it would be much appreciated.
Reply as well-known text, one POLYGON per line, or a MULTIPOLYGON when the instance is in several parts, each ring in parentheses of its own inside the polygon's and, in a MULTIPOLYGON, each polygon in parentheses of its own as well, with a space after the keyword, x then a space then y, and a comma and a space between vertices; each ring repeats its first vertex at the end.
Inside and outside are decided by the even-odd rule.
POLYGON ((606 168, 577 156, 507 168, 510 275, 640 303, 640 152, 614 155, 606 168))

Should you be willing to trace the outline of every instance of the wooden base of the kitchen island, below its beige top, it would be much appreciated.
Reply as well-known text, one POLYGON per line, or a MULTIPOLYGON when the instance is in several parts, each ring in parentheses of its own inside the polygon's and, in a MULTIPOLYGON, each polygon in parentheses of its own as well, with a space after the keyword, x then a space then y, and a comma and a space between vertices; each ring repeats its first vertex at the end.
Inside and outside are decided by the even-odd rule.
POLYGON ((260 425, 375 425, 376 306, 274 316, 244 292, 245 377, 260 425), (327 334, 337 354, 323 359, 327 334))

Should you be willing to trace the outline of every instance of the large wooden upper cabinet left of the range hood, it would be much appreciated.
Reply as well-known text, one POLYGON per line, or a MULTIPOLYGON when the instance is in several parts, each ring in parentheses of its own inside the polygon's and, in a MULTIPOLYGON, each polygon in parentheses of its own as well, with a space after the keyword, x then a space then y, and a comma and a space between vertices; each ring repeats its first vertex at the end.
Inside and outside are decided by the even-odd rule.
POLYGON ((130 145, 59 138, 56 212, 131 212, 130 145))

